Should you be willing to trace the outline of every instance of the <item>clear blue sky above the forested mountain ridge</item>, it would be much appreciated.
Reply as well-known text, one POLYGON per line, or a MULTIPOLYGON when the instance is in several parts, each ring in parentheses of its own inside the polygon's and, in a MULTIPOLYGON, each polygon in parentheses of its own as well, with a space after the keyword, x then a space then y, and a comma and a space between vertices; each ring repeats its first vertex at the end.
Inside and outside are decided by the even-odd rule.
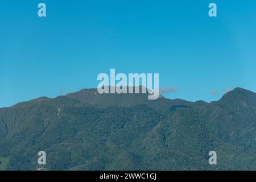
POLYGON ((169 98, 256 92, 256 1, 0 0, 0 107, 96 88, 110 68, 159 73, 169 98))

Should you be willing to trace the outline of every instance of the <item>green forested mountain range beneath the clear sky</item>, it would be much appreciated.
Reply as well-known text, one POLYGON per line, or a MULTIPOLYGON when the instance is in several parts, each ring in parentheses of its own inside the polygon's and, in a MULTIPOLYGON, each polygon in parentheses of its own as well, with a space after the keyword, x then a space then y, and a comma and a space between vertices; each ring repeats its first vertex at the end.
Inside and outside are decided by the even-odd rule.
POLYGON ((82 89, 0 109, 0 170, 255 170, 256 94, 214 102, 82 89), (216 151, 217 165, 209 165, 216 151))

